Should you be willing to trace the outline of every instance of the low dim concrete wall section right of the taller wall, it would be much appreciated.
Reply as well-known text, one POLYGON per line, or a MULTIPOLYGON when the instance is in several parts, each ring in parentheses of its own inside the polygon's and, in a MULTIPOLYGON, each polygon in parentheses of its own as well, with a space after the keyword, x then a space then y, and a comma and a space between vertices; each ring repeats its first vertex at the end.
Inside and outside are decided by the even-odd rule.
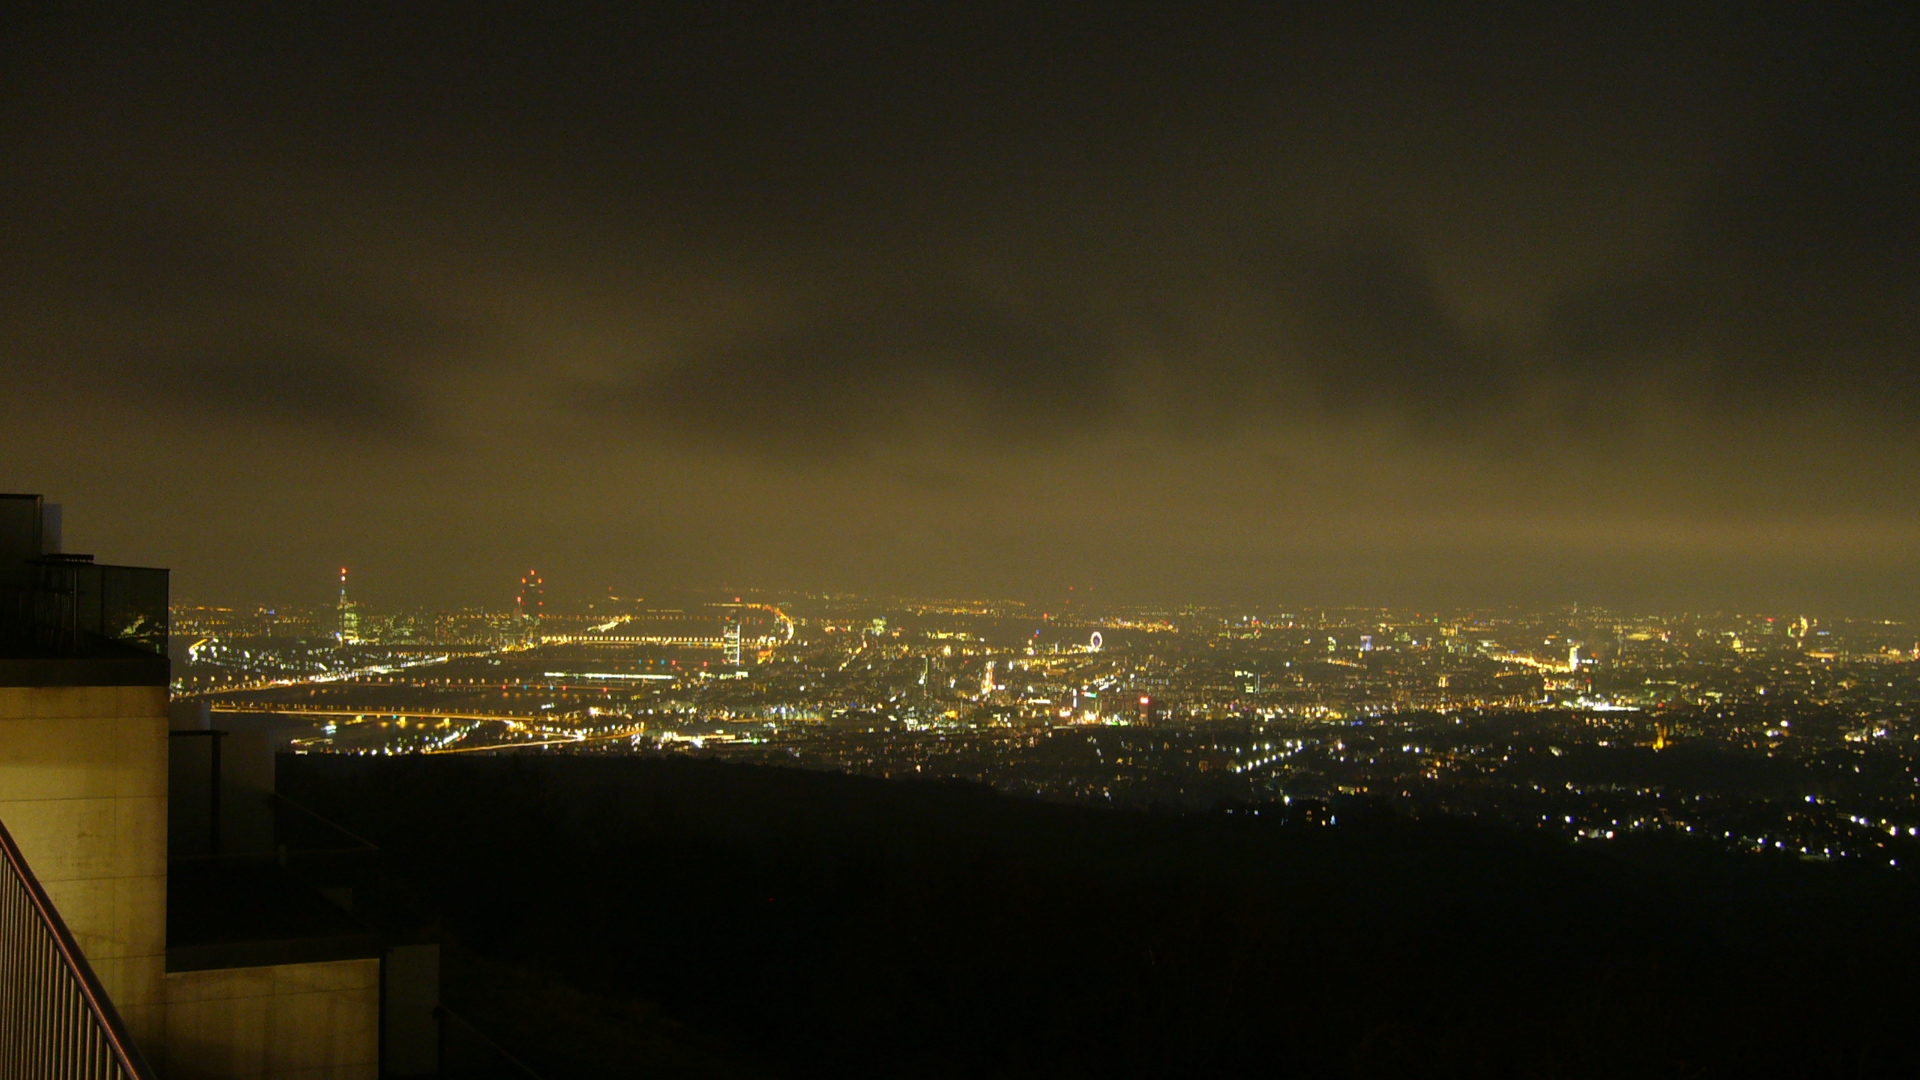
POLYGON ((376 1080, 380 961, 167 976, 167 1080, 376 1080))

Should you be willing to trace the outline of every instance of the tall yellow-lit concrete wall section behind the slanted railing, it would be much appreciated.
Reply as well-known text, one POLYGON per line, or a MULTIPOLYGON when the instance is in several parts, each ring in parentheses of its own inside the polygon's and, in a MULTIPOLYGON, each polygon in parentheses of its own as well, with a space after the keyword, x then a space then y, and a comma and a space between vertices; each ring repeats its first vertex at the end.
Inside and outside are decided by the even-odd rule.
POLYGON ((167 688, 0 686, 0 821, 142 1049, 167 969, 167 688))

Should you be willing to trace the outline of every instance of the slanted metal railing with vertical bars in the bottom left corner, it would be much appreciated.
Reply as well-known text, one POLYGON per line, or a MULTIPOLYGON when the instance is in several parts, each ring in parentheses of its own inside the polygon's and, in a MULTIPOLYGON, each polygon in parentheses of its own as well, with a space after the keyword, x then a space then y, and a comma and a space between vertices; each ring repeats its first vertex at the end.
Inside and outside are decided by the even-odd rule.
POLYGON ((0 824, 0 1076, 156 1080, 0 824))

